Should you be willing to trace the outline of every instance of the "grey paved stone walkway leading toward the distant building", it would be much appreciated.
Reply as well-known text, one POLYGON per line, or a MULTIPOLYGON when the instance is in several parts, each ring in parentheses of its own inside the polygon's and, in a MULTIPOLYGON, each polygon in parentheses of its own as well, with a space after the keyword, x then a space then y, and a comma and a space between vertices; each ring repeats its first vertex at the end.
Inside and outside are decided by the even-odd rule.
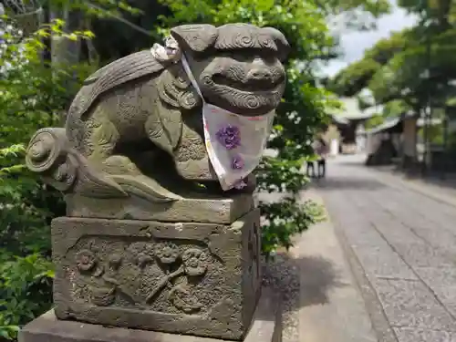
POLYGON ((359 157, 329 161, 316 188, 378 341, 456 342, 456 207, 359 157))

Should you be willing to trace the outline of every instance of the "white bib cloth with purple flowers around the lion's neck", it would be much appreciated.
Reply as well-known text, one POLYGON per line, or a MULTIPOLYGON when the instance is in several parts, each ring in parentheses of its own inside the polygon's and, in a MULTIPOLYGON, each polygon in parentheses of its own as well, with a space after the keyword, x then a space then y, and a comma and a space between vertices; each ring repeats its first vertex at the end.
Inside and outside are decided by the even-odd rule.
POLYGON ((246 117, 207 103, 183 54, 181 62, 202 98, 206 150, 222 189, 243 188, 246 185, 243 180, 261 161, 275 111, 263 116, 246 117))

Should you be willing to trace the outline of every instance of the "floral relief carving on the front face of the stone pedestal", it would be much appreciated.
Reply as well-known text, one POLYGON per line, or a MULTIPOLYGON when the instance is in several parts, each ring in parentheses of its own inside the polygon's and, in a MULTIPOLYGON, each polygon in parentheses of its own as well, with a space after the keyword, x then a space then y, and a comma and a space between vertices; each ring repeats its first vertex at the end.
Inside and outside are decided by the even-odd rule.
POLYGON ((221 267, 201 244, 100 244, 97 238, 79 242, 68 250, 67 259, 71 293, 77 302, 187 315, 210 309, 202 283, 208 272, 213 280, 221 267))

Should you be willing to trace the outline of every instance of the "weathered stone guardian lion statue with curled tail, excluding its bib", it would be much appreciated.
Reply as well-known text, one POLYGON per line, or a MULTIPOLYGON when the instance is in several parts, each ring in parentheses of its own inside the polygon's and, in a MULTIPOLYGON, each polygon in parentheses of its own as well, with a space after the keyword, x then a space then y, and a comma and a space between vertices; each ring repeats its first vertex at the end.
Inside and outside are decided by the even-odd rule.
MULTIPOLYGON (((247 24, 171 29, 202 96, 245 116, 264 115, 285 90, 285 36, 247 24)), ((205 149, 202 100, 179 58, 150 50, 120 58, 87 78, 65 128, 42 129, 26 164, 62 192, 90 197, 135 194, 173 201, 192 189, 217 187, 205 149)), ((254 179, 247 189, 253 191, 254 179)))

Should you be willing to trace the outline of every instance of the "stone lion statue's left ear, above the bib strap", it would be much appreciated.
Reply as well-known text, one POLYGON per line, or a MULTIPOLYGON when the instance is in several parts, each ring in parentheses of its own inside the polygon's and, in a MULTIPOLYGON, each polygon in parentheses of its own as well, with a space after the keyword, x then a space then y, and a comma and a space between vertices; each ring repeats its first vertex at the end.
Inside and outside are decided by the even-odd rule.
POLYGON ((212 47, 218 36, 217 27, 202 25, 182 25, 171 29, 171 36, 183 50, 190 49, 202 53, 212 47))

